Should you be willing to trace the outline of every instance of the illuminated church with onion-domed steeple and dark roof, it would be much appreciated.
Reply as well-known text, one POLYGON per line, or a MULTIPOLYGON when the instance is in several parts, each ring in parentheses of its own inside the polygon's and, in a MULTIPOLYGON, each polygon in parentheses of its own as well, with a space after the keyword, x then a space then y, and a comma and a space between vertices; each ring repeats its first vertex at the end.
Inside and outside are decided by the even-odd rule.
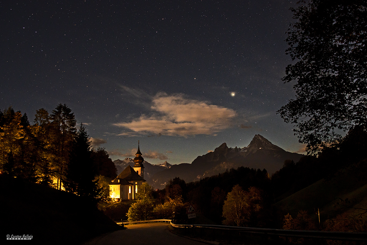
POLYGON ((138 152, 135 154, 134 167, 128 165, 113 181, 110 186, 110 197, 114 199, 136 199, 139 186, 145 182, 143 157, 141 156, 139 142, 138 152))

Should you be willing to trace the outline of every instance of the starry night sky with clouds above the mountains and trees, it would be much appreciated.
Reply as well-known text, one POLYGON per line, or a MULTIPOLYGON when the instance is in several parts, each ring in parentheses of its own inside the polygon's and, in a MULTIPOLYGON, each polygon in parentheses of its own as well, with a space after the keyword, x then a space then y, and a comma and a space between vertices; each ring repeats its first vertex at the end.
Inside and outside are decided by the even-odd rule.
POLYGON ((112 160, 191 163, 255 134, 304 146, 276 111, 291 1, 4 1, 0 109, 62 103, 112 160), (26 2, 26 3, 25 3, 26 2))

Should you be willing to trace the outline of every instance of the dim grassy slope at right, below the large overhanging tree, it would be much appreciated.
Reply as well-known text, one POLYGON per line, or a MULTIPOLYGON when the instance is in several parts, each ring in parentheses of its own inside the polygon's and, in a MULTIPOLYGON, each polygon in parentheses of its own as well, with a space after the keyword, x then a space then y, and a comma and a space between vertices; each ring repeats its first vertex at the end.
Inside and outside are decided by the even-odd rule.
POLYGON ((358 178, 353 170, 344 170, 331 180, 319 180, 284 198, 277 202, 275 207, 279 217, 284 217, 287 213, 295 217, 299 210, 306 210, 315 222, 318 222, 316 212, 319 209, 322 223, 326 219, 348 212, 348 209, 336 205, 340 201, 339 198, 355 200, 353 205, 360 206, 367 200, 366 180, 358 178))

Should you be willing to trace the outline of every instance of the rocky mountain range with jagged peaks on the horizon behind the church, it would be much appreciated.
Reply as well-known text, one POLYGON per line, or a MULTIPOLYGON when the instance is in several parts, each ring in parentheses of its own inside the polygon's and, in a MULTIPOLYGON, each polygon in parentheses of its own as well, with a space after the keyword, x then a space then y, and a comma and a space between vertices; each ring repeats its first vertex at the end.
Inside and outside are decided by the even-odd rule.
MULTIPOLYGON (((186 182, 199 181, 200 178, 210 177, 225 172, 230 168, 249 167, 263 170, 271 175, 283 167, 285 160, 297 162, 303 155, 287 152, 279 146, 273 145, 263 136, 257 134, 247 147, 228 148, 223 143, 214 152, 208 152, 196 157, 189 163, 171 165, 165 161, 162 164, 152 165, 147 161, 144 164, 144 178, 156 189, 163 189, 168 180, 179 177, 186 182)), ((113 161, 120 173, 127 165, 134 166, 131 158, 113 161)))

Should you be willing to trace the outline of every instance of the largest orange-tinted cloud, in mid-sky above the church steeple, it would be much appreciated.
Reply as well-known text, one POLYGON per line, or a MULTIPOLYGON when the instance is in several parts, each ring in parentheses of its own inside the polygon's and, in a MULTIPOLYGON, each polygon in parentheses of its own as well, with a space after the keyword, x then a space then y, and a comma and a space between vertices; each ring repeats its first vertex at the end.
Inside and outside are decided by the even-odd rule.
MULTIPOLYGON (((182 94, 159 93, 150 107, 156 114, 142 115, 129 123, 114 125, 128 128, 140 134, 169 136, 213 135, 232 126, 235 111, 203 101, 187 99, 182 94)), ((128 134, 124 132, 123 134, 128 134)))

